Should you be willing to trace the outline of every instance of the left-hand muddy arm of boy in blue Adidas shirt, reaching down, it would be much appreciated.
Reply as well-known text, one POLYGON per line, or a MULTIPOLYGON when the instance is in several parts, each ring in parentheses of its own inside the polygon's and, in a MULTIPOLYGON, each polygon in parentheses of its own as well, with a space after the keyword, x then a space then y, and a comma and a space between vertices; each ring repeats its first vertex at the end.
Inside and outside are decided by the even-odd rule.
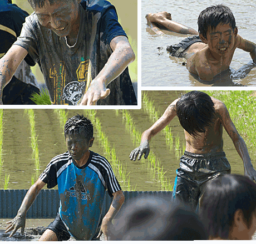
POLYGON ((27 211, 29 210, 29 207, 31 207, 33 202, 35 201, 37 195, 39 194, 39 192, 43 188, 43 186, 45 186, 45 182, 38 179, 36 181, 36 183, 33 184, 29 188, 26 196, 24 197, 24 199, 22 201, 21 207, 19 207, 16 217, 14 217, 13 220, 7 222, 7 224, 9 224, 9 225, 6 227, 5 233, 13 230, 11 235, 9 235, 9 237, 12 237, 14 235, 14 233, 16 233, 18 228, 21 228, 21 233, 23 235, 25 224, 26 224, 27 211))

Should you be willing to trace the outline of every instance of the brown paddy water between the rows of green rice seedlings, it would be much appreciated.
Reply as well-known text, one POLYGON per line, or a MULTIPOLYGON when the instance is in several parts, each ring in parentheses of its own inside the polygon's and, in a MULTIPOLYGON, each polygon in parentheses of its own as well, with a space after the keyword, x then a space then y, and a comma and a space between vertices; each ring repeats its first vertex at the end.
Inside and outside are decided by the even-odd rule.
MULTIPOLYGON (((179 98, 184 91, 149 91, 147 95, 154 100, 154 107, 159 114, 163 114, 168 105, 179 98)), ((142 94, 143 95, 143 94, 142 94)), ((134 128, 141 133, 149 128, 158 118, 150 119, 149 114, 144 110, 144 104, 140 110, 127 110, 134 122, 134 128)), ((65 138, 60 125, 60 120, 55 109, 34 109, 35 113, 35 129, 38 136, 38 149, 40 154, 40 173, 45 169, 46 165, 52 157, 66 151, 65 138)), ((68 118, 73 115, 85 114, 85 110, 66 110, 68 118)), ((101 129, 107 136, 110 147, 115 147, 116 155, 122 165, 126 165, 126 174, 130 177, 130 190, 136 191, 158 191, 161 190, 160 182, 156 177, 152 177, 152 169, 147 166, 144 158, 140 161, 130 161, 129 154, 139 144, 132 143, 131 130, 126 130, 125 121, 122 119, 122 110, 96 110, 96 118, 99 118, 101 129)), ((28 189, 31 186, 32 176, 37 175, 35 163, 32 159, 32 149, 30 146, 30 125, 28 116, 24 113, 24 109, 3 109, 3 166, 0 176, 0 189, 4 187, 4 175, 9 174, 8 189, 28 189)), ((171 132, 175 138, 180 138, 180 149, 183 148, 184 133, 178 118, 174 118, 170 123, 171 132)), ((99 143, 99 135, 95 128, 95 142, 91 148, 92 151, 105 155, 102 145, 99 143)), ((234 148, 232 140, 224 131, 224 151, 232 166, 232 173, 243 174, 243 162, 234 148)), ((150 142, 151 151, 160 160, 160 167, 171 184, 175 179, 175 171, 179 167, 179 156, 176 150, 170 151, 166 145, 165 136, 161 133, 157 134, 150 142)), ((173 146, 174 148, 174 146, 173 146)), ((182 151, 182 150, 181 150, 182 151)), ((250 156, 254 167, 255 152, 250 151, 250 156)), ((117 175, 118 177, 118 175, 117 175)), ((37 178, 37 176, 36 176, 37 178)), ((35 178, 35 180, 36 180, 35 178)), ((127 187, 123 187, 127 190, 127 187)), ((34 226, 41 226, 40 223, 34 223, 34 226)), ((0 220, 0 230, 6 220, 0 220)), ((51 220, 46 220, 42 226, 47 226, 51 220)), ((27 222, 28 223, 28 222, 27 222)), ((29 227, 29 226, 28 226, 29 227)), ((33 227, 33 226, 32 226, 33 227)), ((32 235, 29 234, 28 236, 32 235)), ((17 234, 19 235, 19 234, 17 234)), ((16 237, 15 237, 16 238, 16 237)), ((28 237, 26 237, 28 238, 28 237)), ((37 236, 32 237, 36 240, 37 236)), ((0 231, 0 240, 8 241, 0 231), (1 237, 2 235, 2 237, 1 237)), ((15 239, 22 241, 19 236, 15 239)), ((27 239, 29 241, 30 239, 27 239)), ((11 240, 10 240, 11 241, 11 240)))

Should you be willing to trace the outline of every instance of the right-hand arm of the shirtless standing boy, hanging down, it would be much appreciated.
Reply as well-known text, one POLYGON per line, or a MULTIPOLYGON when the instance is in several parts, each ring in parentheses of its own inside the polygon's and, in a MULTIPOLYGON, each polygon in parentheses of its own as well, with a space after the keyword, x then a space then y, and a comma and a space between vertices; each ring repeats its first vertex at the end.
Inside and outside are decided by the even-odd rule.
POLYGON ((235 128, 235 125, 232 119, 230 118, 227 107, 221 101, 220 103, 218 103, 218 106, 216 107, 216 112, 219 113, 221 123, 223 124, 225 130, 232 139, 235 149, 237 150, 239 156, 243 160, 244 175, 248 176, 252 180, 256 180, 256 171, 254 170, 252 162, 250 161, 247 146, 243 138, 239 135, 237 129, 235 128))

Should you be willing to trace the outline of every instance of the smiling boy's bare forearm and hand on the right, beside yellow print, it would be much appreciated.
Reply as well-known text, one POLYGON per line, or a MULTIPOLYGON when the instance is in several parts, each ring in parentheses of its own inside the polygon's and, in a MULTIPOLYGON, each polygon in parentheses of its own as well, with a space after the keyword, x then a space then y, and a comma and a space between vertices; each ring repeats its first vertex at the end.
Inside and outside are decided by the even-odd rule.
POLYGON ((110 94, 107 85, 124 72, 126 67, 135 60, 134 51, 124 35, 113 38, 110 42, 113 53, 100 73, 92 80, 90 87, 83 95, 80 105, 95 105, 97 100, 110 94))

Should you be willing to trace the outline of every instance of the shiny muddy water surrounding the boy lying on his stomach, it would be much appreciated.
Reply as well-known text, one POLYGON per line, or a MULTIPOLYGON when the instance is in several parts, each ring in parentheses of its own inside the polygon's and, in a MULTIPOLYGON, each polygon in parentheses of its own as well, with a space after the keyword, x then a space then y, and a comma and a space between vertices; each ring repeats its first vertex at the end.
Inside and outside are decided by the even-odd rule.
POLYGON ((145 15, 167 11, 173 21, 198 30, 197 18, 206 7, 223 3, 228 6, 235 17, 238 34, 256 42, 255 2, 251 0, 142 0, 141 1, 141 85, 142 87, 209 87, 209 86, 251 86, 256 84, 256 65, 252 63, 249 53, 242 49, 235 50, 230 70, 218 75, 213 82, 200 82, 189 74, 182 65, 184 59, 171 57, 166 46, 179 43, 188 35, 165 32, 154 34, 146 24, 145 15), (150 60, 150 62, 149 62, 150 60))

